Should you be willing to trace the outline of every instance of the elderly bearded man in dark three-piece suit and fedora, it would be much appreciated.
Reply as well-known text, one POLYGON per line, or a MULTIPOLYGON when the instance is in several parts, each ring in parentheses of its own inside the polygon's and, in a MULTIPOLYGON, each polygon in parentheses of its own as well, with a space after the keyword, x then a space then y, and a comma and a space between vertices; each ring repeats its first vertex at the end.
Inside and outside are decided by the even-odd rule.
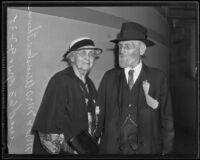
POLYGON ((119 37, 119 66, 107 71, 97 102, 102 153, 167 154, 172 151, 174 128, 166 76, 142 62, 154 42, 138 23, 123 23, 119 37))

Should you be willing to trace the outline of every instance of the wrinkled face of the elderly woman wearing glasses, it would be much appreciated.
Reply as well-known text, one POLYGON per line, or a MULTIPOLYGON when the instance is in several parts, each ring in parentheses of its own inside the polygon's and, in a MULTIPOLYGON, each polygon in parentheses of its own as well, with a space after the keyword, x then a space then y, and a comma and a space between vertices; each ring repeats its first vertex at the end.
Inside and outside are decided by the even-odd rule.
POLYGON ((74 63, 78 70, 88 72, 94 64, 95 51, 94 50, 79 50, 74 55, 74 63))

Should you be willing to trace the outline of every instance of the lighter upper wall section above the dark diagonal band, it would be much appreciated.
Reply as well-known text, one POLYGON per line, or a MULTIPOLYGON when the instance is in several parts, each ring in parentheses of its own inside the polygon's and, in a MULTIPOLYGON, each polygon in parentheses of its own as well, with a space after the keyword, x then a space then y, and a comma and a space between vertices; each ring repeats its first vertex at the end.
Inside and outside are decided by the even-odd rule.
POLYGON ((156 31, 166 39, 169 37, 169 25, 163 17, 153 7, 132 6, 132 7, 87 7, 103 13, 125 18, 129 21, 138 22, 150 30, 156 31))

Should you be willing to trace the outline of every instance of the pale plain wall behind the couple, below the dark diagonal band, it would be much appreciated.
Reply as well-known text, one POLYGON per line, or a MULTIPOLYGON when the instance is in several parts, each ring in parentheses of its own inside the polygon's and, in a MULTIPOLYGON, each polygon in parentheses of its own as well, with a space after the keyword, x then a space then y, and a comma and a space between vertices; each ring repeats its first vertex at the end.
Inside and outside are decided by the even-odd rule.
MULTIPOLYGON (((7 13, 8 150, 10 154, 30 154, 34 140, 30 135, 32 124, 48 81, 67 67, 61 59, 71 41, 88 36, 108 53, 112 51, 105 48, 113 48, 107 43, 108 38, 110 34, 115 36, 117 30, 34 13, 29 7, 26 11, 8 8, 7 13)), ((103 73, 113 66, 113 54, 95 62, 90 77, 96 88, 103 73)))

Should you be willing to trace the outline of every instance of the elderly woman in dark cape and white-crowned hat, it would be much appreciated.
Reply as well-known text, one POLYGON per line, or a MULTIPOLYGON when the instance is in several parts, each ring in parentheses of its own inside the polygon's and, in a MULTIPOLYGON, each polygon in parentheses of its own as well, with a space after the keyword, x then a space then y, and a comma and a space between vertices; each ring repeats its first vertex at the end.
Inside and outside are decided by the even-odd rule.
POLYGON ((63 56, 70 66, 50 79, 32 127, 33 154, 74 154, 74 137, 81 131, 94 136, 96 89, 88 73, 100 53, 90 38, 71 42, 63 56))

